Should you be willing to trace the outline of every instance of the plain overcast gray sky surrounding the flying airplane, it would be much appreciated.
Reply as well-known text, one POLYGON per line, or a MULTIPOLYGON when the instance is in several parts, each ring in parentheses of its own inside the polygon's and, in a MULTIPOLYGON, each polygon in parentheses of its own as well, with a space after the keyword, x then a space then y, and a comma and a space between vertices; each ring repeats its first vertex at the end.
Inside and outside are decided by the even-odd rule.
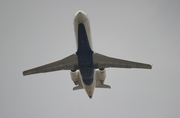
POLYGON ((179 118, 179 0, 1 0, 1 118, 179 118), (73 15, 88 14, 94 51, 153 64, 107 69, 111 89, 73 91, 69 71, 22 71, 76 51, 73 15))

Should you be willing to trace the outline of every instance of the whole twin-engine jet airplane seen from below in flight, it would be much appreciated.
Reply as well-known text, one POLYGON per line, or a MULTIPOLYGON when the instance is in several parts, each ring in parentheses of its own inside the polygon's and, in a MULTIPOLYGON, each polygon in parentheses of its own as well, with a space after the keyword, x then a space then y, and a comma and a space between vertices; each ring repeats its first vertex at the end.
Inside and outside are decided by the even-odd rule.
POLYGON ((85 89, 91 99, 95 88, 111 88, 104 84, 105 68, 143 68, 152 69, 150 64, 108 57, 93 51, 90 23, 87 14, 78 11, 74 15, 74 31, 77 51, 66 58, 43 66, 29 69, 23 75, 70 70, 75 84, 73 90, 85 89))

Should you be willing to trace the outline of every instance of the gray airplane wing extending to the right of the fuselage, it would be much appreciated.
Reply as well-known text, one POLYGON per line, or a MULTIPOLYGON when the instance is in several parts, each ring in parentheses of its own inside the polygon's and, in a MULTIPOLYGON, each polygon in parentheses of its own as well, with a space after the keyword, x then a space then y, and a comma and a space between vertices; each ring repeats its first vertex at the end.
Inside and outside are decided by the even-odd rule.
POLYGON ((98 53, 93 53, 93 61, 94 61, 94 68, 115 67, 115 68, 152 69, 152 66, 150 64, 116 59, 116 58, 108 57, 108 56, 101 55, 98 53))

